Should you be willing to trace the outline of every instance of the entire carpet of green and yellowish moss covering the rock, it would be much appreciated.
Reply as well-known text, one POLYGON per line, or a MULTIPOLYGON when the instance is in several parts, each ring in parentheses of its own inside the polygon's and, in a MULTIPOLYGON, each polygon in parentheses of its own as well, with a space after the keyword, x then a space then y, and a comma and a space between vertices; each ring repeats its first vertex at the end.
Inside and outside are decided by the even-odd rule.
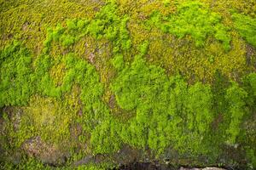
MULTIPOLYGON (((18 130, 3 115, 1 143, 15 150, 41 136, 71 153, 67 169, 86 155, 111 157, 125 144, 155 158, 175 150, 210 163, 226 144, 241 144, 253 162, 253 136, 246 136, 253 134, 247 122, 256 86, 246 54, 253 57, 254 48, 246 53, 241 41, 253 45, 253 18, 233 14, 233 23, 225 8, 236 2, 1 3, 8 8, 1 11, 1 48, 10 37, 23 42, 0 52, 0 107, 24 111, 18 130)), ((37 162, 31 167, 44 168, 37 162)))

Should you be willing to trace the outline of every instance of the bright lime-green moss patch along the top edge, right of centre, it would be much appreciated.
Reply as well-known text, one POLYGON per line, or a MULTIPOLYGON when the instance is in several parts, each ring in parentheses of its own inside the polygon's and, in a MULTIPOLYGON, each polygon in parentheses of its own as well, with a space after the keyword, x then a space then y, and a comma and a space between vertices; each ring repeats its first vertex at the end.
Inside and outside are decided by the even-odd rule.
POLYGON ((207 36, 214 36, 223 42, 225 50, 230 49, 230 36, 227 27, 221 23, 221 16, 211 12, 200 2, 181 3, 177 13, 169 16, 161 16, 159 12, 154 12, 146 24, 155 25, 178 38, 190 35, 197 47, 204 45, 207 36))

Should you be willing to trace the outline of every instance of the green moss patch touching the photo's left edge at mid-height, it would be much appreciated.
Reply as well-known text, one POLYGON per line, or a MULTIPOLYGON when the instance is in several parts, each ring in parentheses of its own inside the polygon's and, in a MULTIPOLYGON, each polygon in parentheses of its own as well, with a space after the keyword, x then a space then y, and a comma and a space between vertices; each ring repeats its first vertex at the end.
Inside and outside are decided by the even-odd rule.
POLYGON ((32 54, 20 42, 0 52, 0 107, 26 105, 33 93, 32 54))

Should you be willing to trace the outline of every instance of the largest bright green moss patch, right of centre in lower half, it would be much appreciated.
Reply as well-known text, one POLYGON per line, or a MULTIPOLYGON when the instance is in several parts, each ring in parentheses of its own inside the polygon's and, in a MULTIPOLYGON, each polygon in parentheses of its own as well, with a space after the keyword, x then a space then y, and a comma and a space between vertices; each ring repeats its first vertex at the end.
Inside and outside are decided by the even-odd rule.
POLYGON ((147 65, 137 55, 120 72, 112 90, 122 109, 137 112, 121 133, 125 142, 139 148, 149 146, 159 154, 170 145, 199 151, 201 140, 193 139, 202 139, 209 132, 213 118, 209 87, 196 83, 188 89, 182 79, 169 80, 164 70, 147 65))

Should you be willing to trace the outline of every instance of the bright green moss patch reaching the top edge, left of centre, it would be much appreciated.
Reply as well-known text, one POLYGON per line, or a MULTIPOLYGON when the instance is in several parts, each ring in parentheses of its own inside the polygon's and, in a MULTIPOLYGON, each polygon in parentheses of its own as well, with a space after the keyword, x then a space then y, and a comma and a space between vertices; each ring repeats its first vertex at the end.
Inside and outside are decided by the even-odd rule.
POLYGON ((44 41, 44 51, 48 52, 51 42, 61 42, 61 45, 67 48, 88 35, 96 39, 106 38, 113 42, 113 53, 129 50, 131 39, 126 28, 128 20, 127 15, 118 15, 117 3, 108 2, 93 20, 67 20, 67 27, 59 24, 55 29, 49 28, 47 39, 44 41))

